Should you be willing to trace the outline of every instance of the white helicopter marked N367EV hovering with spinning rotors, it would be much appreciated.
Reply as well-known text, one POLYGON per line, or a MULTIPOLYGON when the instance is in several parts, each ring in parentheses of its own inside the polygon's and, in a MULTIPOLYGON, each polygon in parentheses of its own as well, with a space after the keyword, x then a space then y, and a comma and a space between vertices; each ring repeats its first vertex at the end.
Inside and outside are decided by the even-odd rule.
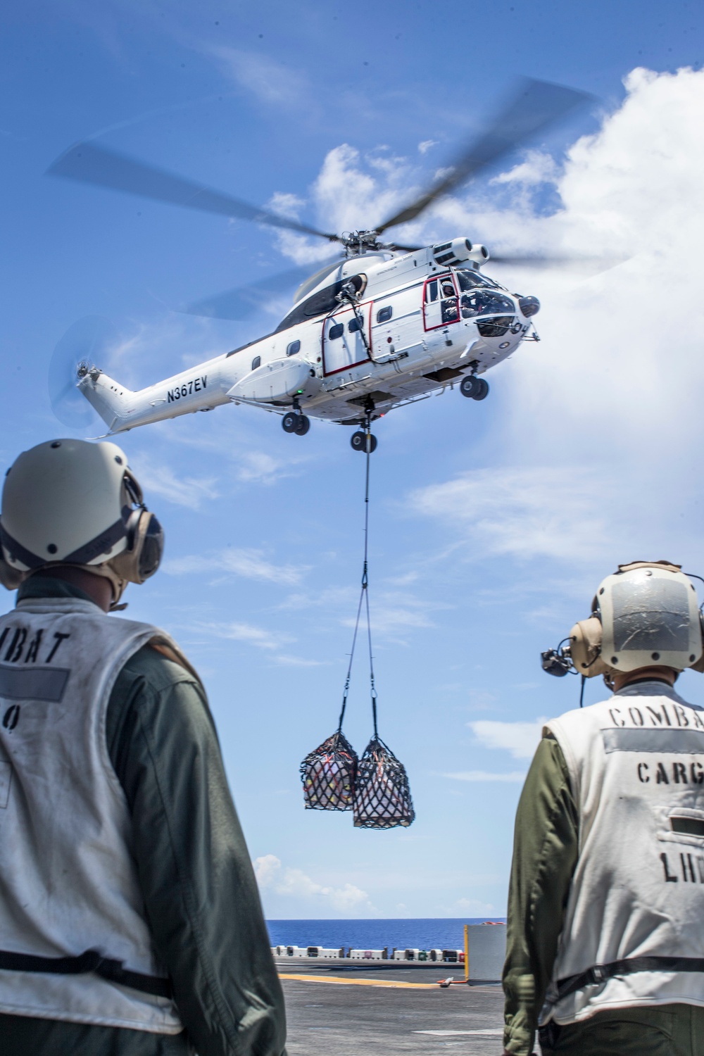
MULTIPOLYGON (((292 307, 273 333, 137 392, 103 373, 89 347, 76 350, 74 341, 66 364, 65 350, 57 346, 55 412, 68 420, 65 407, 84 397, 107 423, 106 435, 112 436, 225 403, 247 403, 281 415, 284 430, 299 436, 308 432, 310 418, 363 426, 366 432, 358 429, 350 442, 364 451, 376 448, 372 420, 448 384, 458 383, 463 396, 484 399, 489 384, 482 375, 521 341, 538 340, 532 322, 539 309, 537 298, 510 293, 482 275, 489 250, 467 238, 414 247, 383 243, 380 237, 415 220, 441 195, 587 98, 562 86, 524 81, 444 178, 378 227, 341 235, 256 209, 92 143, 72 147, 50 174, 320 235, 340 243, 344 257, 328 261, 299 286, 292 307)), ((270 295, 282 280, 290 283, 301 270, 220 295, 190 310, 243 318, 263 295, 270 295)))

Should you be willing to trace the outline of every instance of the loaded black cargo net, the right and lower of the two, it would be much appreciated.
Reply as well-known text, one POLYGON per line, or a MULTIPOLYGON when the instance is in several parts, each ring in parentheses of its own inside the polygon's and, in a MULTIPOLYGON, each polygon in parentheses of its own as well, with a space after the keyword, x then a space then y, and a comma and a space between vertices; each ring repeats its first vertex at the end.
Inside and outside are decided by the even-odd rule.
POLYGON ((416 816, 405 767, 376 734, 359 761, 354 810, 358 829, 408 826, 416 816))

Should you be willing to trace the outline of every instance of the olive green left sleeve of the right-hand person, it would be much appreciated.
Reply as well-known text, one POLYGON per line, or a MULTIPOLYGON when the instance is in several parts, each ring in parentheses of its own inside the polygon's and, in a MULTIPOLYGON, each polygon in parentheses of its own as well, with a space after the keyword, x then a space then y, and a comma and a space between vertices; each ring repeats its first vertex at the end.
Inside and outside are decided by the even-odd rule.
POLYGON ((503 965, 503 1048, 533 1050, 578 853, 577 811, 562 749, 538 744, 516 812, 503 965))

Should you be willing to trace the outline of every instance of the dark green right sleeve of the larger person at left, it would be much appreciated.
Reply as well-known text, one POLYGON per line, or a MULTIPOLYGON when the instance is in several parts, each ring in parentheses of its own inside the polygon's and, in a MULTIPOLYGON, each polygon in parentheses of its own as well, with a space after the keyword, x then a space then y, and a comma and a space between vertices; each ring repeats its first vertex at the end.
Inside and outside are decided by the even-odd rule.
POLYGON ((283 994, 203 687, 145 646, 117 677, 107 741, 156 953, 198 1056, 282 1056, 283 994))

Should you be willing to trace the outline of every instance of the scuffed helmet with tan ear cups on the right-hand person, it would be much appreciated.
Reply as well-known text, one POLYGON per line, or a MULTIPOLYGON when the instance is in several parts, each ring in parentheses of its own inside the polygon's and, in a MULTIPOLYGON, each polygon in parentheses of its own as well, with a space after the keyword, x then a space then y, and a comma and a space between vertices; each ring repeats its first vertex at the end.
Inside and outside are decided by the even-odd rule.
POLYGON ((585 678, 640 667, 704 671, 702 617, 681 565, 634 561, 600 584, 592 615, 575 623, 564 649, 543 654, 543 666, 585 678))

